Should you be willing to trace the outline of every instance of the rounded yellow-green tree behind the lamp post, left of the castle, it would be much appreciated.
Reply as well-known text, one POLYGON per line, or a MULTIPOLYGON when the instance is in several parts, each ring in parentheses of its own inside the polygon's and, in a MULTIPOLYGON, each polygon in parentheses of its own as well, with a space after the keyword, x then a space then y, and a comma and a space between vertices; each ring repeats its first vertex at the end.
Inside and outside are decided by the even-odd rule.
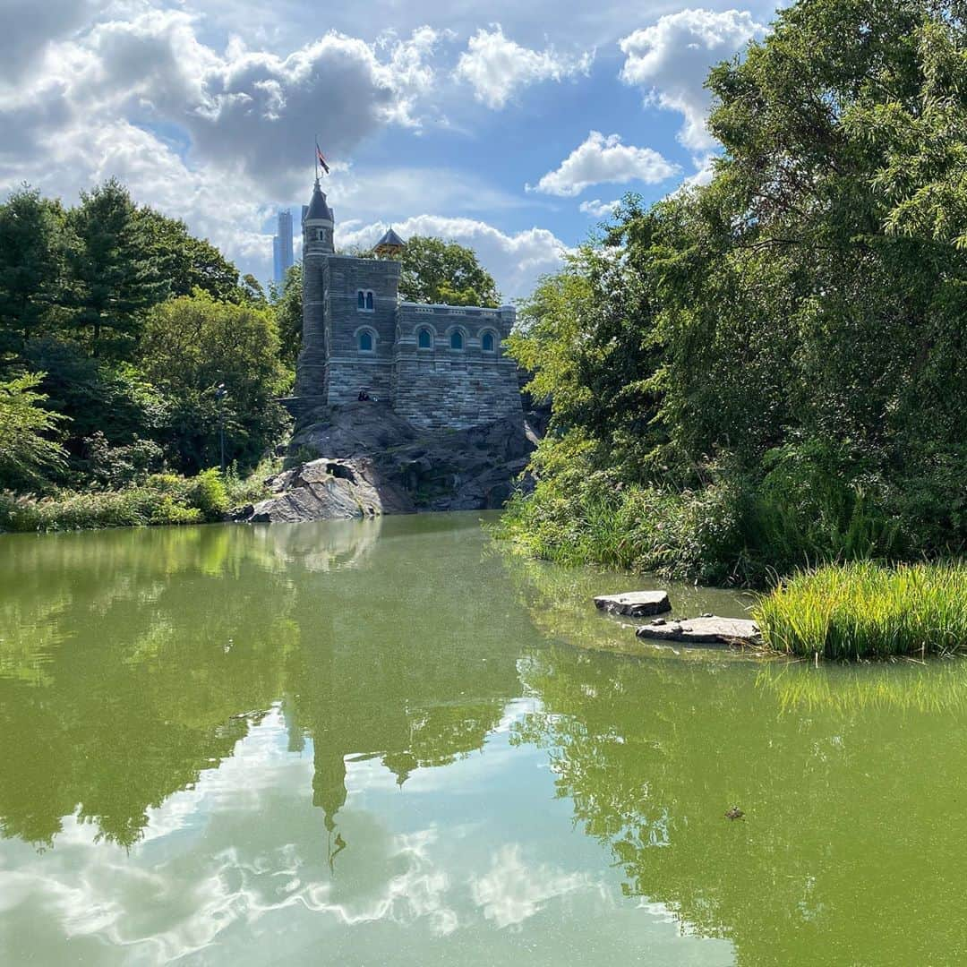
POLYGON ((200 291, 169 300, 148 317, 139 363, 169 401, 170 457, 183 471, 218 464, 222 416, 229 462, 252 465, 278 440, 286 418, 276 396, 287 373, 270 310, 200 291))

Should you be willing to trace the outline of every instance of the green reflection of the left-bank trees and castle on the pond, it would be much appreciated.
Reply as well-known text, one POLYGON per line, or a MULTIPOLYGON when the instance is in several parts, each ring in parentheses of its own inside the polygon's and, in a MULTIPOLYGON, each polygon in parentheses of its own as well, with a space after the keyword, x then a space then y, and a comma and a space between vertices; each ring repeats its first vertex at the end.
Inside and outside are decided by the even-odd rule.
POLYGON ((131 845, 148 809, 231 755, 279 696, 288 747, 315 739, 331 829, 347 755, 402 783, 481 747, 516 690, 513 633, 485 596, 439 593, 454 584, 446 546, 424 555, 418 535, 395 553, 390 533, 371 557, 382 526, 5 539, 4 835, 49 847, 76 814, 131 845))

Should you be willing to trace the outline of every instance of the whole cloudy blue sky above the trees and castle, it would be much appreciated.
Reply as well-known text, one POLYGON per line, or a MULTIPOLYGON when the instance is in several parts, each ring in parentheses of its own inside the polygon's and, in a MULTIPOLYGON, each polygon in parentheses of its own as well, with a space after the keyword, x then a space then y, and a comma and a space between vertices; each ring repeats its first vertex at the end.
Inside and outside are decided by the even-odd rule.
POLYGON ((701 181, 708 67, 767 3, 0 0, 0 194, 116 175, 268 278, 314 135, 337 245, 393 222, 478 249, 509 299, 628 190, 701 181))

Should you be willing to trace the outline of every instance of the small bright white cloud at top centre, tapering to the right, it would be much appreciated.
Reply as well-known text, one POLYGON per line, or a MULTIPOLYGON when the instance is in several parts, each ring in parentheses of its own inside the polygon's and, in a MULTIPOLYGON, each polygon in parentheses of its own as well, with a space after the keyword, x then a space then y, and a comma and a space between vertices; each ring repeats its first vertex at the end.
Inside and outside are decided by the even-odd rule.
POLYGON ((542 80, 563 80, 577 73, 590 73, 594 51, 569 57, 553 47, 531 50, 504 36, 499 23, 478 30, 460 54, 454 76, 469 83, 474 97, 499 110, 521 87, 542 80))

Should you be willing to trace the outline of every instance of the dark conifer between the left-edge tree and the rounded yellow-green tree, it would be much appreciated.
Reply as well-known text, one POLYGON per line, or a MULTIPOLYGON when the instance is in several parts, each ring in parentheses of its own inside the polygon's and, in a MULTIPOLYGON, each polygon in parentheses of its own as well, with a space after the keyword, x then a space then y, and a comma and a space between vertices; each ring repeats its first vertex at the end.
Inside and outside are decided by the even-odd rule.
POLYGON ((73 325, 88 335, 92 356, 131 358, 145 314, 167 284, 151 264, 143 221, 124 186, 112 178, 80 198, 68 219, 78 241, 73 325))

